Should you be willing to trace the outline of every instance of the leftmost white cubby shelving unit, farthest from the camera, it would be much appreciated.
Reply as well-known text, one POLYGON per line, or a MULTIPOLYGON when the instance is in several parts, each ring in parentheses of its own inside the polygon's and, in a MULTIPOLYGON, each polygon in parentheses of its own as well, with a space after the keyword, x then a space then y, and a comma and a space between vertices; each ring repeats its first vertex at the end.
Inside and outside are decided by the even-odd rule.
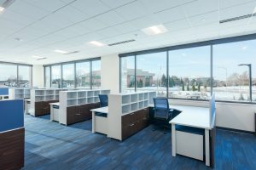
POLYGON ((9 88, 9 99, 30 99, 33 88, 9 88))

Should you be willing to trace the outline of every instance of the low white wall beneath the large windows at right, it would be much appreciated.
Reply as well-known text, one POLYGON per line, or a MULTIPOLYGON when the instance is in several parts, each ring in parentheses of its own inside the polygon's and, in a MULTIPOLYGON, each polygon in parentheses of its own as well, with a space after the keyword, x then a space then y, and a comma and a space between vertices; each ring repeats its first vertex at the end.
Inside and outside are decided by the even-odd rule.
MULTIPOLYGON (((169 99, 170 105, 194 105, 207 107, 206 101, 169 99)), ((256 105, 216 103, 216 126, 255 132, 254 111, 256 105)))

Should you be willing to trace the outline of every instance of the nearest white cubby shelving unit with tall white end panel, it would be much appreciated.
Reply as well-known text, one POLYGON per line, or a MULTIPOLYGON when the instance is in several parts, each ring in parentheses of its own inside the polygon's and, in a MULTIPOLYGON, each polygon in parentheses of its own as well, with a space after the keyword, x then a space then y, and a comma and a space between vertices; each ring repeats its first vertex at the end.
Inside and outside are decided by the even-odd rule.
POLYGON ((122 140, 122 116, 154 103, 155 92, 108 94, 108 137, 122 140))

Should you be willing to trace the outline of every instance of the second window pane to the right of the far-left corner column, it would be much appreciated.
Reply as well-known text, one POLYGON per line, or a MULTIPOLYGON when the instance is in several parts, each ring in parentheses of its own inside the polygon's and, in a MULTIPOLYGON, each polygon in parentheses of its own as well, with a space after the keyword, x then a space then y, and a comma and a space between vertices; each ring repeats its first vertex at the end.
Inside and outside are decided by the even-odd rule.
POLYGON ((51 67, 51 88, 61 88, 61 65, 51 67))

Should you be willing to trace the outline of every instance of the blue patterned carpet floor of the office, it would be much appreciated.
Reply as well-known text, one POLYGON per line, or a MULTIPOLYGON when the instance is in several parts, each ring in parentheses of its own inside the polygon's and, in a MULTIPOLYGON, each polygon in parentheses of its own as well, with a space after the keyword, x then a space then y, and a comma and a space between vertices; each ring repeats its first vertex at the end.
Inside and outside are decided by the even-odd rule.
MULTIPOLYGON (((172 157, 171 133, 153 125, 123 142, 91 133, 91 121, 63 126, 49 116, 25 116, 23 169, 211 169, 203 161, 172 157)), ((256 169, 256 137, 217 130, 214 169, 256 169)))

